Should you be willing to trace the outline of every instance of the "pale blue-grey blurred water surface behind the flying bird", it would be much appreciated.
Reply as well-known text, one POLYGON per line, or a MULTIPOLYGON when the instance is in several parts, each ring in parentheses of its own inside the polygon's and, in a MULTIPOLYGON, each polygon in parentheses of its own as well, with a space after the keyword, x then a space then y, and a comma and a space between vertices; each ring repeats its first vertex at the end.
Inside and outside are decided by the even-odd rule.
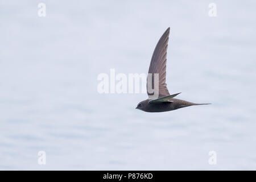
POLYGON ((1 0, 0 169, 255 170, 255 5, 1 0), (144 113, 147 94, 97 92, 110 68, 146 73, 168 27, 170 93, 212 105, 144 113))

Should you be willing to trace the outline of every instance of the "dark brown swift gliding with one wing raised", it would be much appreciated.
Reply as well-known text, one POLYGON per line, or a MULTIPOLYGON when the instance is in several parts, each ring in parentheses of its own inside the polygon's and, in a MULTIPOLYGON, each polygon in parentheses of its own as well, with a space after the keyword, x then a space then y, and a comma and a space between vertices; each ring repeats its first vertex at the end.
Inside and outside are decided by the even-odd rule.
POLYGON ((170 34, 170 27, 164 32, 158 44, 156 44, 155 51, 152 55, 150 67, 147 76, 147 94, 148 99, 139 102, 136 109, 146 112, 164 112, 183 107, 194 105, 207 105, 195 104, 193 102, 183 101, 174 98, 177 94, 168 92, 166 85, 166 55, 168 40, 170 34), (156 86, 155 86, 156 84, 156 86), (158 87, 157 87, 158 85, 158 87), (154 90, 154 92, 152 92, 154 90))

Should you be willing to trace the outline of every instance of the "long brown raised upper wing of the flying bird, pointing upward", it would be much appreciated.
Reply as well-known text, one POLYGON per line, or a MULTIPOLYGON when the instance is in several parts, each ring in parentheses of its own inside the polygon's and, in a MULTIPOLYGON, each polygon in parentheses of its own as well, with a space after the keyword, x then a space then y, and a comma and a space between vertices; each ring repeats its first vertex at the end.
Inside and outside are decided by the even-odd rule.
MULTIPOLYGON (((151 83, 147 80, 147 94, 150 98, 154 93, 148 92, 148 84, 151 84, 152 89, 154 89, 154 73, 159 73, 159 96, 170 96, 168 92, 167 85, 166 85, 166 56, 167 56, 167 47, 168 47, 168 40, 170 34, 170 27, 164 32, 158 44, 156 44, 154 53, 151 58, 150 67, 148 69, 148 73, 152 74, 151 83)), ((150 74, 150 75, 151 75, 150 74)), ((149 76, 149 74, 148 74, 149 76)))

